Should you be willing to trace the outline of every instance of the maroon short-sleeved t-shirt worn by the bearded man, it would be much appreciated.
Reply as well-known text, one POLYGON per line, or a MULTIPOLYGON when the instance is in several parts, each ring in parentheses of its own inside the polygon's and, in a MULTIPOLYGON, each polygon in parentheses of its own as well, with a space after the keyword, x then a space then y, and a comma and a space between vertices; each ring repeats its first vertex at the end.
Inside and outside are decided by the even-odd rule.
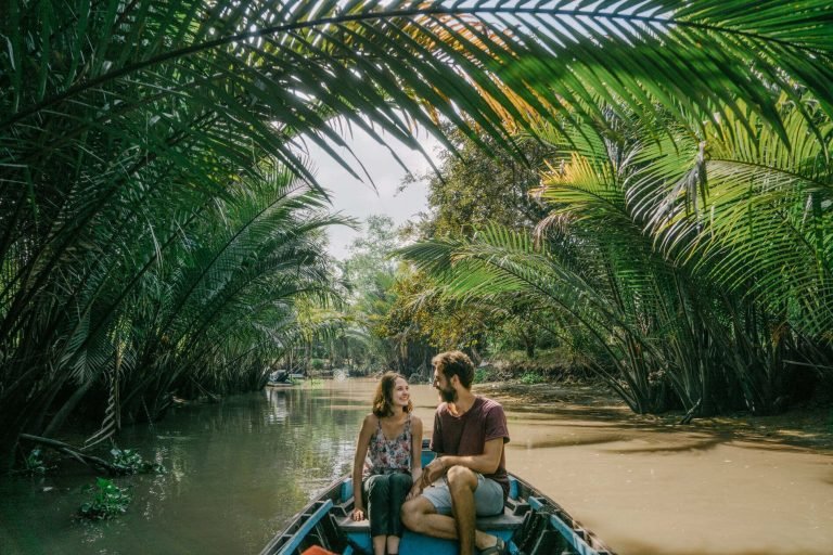
MULTIPOLYGON (((434 434, 431 437, 431 450, 447 455, 482 455, 486 441, 503 438, 509 443, 507 415, 499 402, 476 396, 474 404, 462 416, 454 416, 448 410, 448 403, 437 406, 434 414, 434 434)), ((503 498, 509 495, 505 453, 500 454, 500 464, 495 474, 485 474, 503 488, 503 498)))

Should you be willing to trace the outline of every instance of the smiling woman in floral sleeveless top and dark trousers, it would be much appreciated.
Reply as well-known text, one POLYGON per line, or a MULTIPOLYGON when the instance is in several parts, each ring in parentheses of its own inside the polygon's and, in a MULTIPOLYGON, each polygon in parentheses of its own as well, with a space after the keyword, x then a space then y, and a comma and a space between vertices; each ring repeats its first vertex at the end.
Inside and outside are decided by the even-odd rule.
POLYGON ((411 411, 408 380, 385 372, 373 396, 373 413, 361 425, 353 463, 353 519, 370 519, 373 555, 399 553, 399 509, 422 475, 422 421, 411 411))

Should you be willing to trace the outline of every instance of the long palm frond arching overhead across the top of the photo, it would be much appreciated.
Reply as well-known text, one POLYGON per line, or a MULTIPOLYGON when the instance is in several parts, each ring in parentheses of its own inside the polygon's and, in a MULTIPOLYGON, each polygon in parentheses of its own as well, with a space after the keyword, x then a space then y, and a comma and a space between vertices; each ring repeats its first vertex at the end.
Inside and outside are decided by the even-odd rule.
MULTIPOLYGON (((74 137, 66 131, 90 121, 80 109, 88 111, 90 122, 111 125, 151 107, 148 102, 155 99, 168 107, 156 106, 154 125, 188 133, 174 108, 191 103, 209 119, 233 126, 240 118, 236 124, 246 125, 254 142, 303 173, 287 139, 319 131, 342 142, 326 129, 326 115, 361 109, 418 146, 408 119, 433 128, 430 116, 443 114, 466 126, 458 109, 501 134, 503 116, 549 114, 562 109, 562 102, 576 108, 595 106, 594 99, 602 98, 648 109, 649 101, 659 101, 668 109, 683 105, 710 115, 736 111, 735 99, 745 99, 786 139, 773 87, 797 98, 798 83, 825 113, 833 106, 831 44, 823 38, 830 23, 818 16, 824 2, 396 2, 380 8, 361 1, 293 1, 241 8, 194 1, 152 10, 110 2, 79 14, 55 9, 49 16, 18 2, 10 8, 3 29, 10 48, 2 61, 12 87, 3 96, 7 117, 0 128, 10 131, 50 114, 61 124, 42 132, 74 137), (34 48, 60 48, 27 55, 23 28, 43 34, 34 48), (28 72, 38 79, 25 79, 28 72), (108 91, 112 86, 123 92, 108 91), (478 101, 466 91, 485 98, 478 101), (553 101, 555 95, 561 100, 553 101), (101 109, 102 98, 113 102, 105 106, 110 109, 101 109), (408 116, 387 108, 388 99, 408 116), (73 117, 61 118, 69 102, 73 117), (270 128, 269 119, 279 125, 270 128)), ((600 115, 588 109, 590 117, 600 115)), ((144 118, 139 122, 146 125, 144 118)), ((375 134, 361 119, 354 122, 375 134)), ((329 149, 323 138, 312 138, 329 149)))

